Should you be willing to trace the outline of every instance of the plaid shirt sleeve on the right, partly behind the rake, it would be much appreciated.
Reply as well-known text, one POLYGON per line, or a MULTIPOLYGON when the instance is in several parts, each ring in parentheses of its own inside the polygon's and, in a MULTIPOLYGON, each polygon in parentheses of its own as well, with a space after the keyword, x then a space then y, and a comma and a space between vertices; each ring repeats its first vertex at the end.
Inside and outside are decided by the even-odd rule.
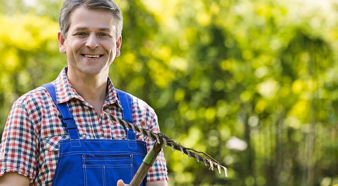
MULTIPOLYGON (((155 133, 160 132, 160 127, 157 122, 157 116, 155 113, 151 117, 149 130, 155 133)), ((156 142, 156 140, 151 140, 149 138, 146 138, 145 141, 147 142, 148 151, 153 146, 153 144, 156 142)), ((160 181, 160 180, 166 180, 167 182, 169 182, 167 171, 168 170, 166 166, 166 160, 164 158, 163 149, 161 149, 161 152, 156 158, 154 164, 150 167, 148 171, 147 182, 160 181)))

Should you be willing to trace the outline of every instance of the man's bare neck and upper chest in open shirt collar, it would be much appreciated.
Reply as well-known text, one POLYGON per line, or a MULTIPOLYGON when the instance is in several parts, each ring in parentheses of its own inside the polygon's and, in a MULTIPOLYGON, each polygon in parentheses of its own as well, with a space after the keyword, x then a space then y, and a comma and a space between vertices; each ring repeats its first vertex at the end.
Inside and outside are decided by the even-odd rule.
POLYGON ((108 72, 86 75, 73 72, 68 68, 67 77, 76 92, 100 114, 107 95, 108 72))

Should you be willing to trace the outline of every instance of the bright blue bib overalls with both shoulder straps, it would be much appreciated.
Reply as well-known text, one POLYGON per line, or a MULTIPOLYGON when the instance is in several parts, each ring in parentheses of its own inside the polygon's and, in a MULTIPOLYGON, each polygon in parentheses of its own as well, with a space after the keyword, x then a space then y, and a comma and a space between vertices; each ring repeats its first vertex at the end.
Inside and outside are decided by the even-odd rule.
MULTIPOLYGON (((66 103, 56 103, 53 84, 43 85, 62 115, 69 138, 60 141, 59 157, 52 186, 116 186, 119 179, 130 183, 147 154, 146 142, 127 132, 127 140, 79 139, 75 120, 66 103)), ((125 121, 132 122, 131 95, 117 90, 125 121)), ((146 185, 146 178, 141 186, 146 185)))

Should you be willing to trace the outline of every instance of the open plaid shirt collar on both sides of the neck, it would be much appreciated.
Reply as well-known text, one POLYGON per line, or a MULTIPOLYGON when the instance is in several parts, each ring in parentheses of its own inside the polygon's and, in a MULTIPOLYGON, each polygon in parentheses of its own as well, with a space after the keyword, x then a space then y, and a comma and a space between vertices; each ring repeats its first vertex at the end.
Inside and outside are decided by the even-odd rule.
MULTIPOLYGON (((53 82, 53 84, 55 85, 55 91, 56 91, 56 102, 64 103, 64 102, 69 101, 72 98, 77 98, 81 101, 84 101, 84 99, 76 92, 76 90, 73 88, 72 84, 70 83, 67 77, 67 69, 68 67, 63 68, 60 74, 57 76, 57 78, 53 82)), ((116 103, 120 108, 122 108, 120 100, 117 97, 117 92, 114 88, 114 85, 110 77, 108 77, 107 79, 107 84, 108 84, 107 85, 108 93, 107 93, 104 104, 116 103)))

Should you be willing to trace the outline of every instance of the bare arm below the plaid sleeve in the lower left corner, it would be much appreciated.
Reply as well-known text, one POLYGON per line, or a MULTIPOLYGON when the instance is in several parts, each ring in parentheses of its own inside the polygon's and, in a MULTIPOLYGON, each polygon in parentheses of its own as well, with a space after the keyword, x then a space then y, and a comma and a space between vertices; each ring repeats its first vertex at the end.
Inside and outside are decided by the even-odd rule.
POLYGON ((29 186, 28 177, 19 175, 17 172, 6 172, 0 176, 0 186, 29 186))

